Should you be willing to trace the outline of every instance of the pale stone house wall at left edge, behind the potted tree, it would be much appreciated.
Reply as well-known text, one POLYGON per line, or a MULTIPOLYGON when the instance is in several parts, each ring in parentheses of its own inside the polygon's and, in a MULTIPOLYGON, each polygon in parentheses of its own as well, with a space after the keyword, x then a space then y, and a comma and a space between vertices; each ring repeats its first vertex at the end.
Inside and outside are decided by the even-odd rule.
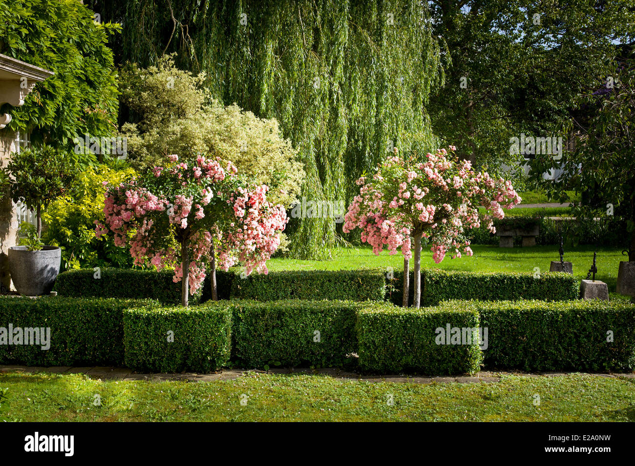
MULTIPOLYGON (((8 128, 0 129, 0 166, 5 167, 9 162, 11 152, 16 150, 15 133, 8 128)), ((10 288, 8 250, 15 246, 18 238, 18 223, 15 209, 8 195, 8 190, 0 193, 0 283, 10 288)))

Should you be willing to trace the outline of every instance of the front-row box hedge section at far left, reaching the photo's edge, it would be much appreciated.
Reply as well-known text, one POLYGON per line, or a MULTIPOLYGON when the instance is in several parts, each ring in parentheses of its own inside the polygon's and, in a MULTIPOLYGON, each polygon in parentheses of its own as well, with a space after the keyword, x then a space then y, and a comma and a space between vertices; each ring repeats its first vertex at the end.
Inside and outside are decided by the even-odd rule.
POLYGON ((156 307, 158 303, 124 299, 0 297, 0 328, 6 329, 0 330, 0 363, 122 365, 123 311, 133 306, 156 307), (6 344, 8 341, 3 340, 2 333, 8 331, 9 325, 14 329, 50 328, 50 348, 6 344))

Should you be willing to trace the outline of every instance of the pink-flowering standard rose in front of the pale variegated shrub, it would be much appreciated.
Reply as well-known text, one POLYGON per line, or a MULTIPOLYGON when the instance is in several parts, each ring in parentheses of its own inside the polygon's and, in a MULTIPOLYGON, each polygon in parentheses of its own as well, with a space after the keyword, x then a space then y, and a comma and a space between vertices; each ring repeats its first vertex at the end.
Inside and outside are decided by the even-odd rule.
POLYGON ((109 186, 97 236, 112 231, 116 245, 130 243, 135 265, 175 266, 183 306, 201 287, 208 264, 214 300, 217 265, 227 270, 240 262, 247 275, 267 273, 265 262, 287 222, 283 207, 267 201, 267 186, 252 188, 218 158, 168 159, 142 179, 109 186))

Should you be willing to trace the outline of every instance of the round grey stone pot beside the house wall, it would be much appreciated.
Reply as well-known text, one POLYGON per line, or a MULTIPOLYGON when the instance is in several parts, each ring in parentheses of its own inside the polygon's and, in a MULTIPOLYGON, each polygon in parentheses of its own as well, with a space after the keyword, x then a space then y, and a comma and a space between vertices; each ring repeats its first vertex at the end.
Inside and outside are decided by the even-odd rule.
POLYGON ((44 246, 39 251, 30 251, 26 246, 9 248, 9 273, 21 295, 50 294, 61 262, 62 250, 57 246, 44 246))

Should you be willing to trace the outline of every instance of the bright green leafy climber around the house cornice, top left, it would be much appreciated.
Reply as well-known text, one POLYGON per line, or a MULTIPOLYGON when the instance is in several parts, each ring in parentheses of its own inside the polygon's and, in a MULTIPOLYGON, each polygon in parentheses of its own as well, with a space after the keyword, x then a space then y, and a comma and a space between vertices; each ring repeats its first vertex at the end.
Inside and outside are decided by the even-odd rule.
POLYGON ((56 146, 116 131, 107 41, 119 26, 97 19, 78 0, 0 0, 0 53, 55 72, 11 110, 13 131, 33 131, 32 141, 56 146))

